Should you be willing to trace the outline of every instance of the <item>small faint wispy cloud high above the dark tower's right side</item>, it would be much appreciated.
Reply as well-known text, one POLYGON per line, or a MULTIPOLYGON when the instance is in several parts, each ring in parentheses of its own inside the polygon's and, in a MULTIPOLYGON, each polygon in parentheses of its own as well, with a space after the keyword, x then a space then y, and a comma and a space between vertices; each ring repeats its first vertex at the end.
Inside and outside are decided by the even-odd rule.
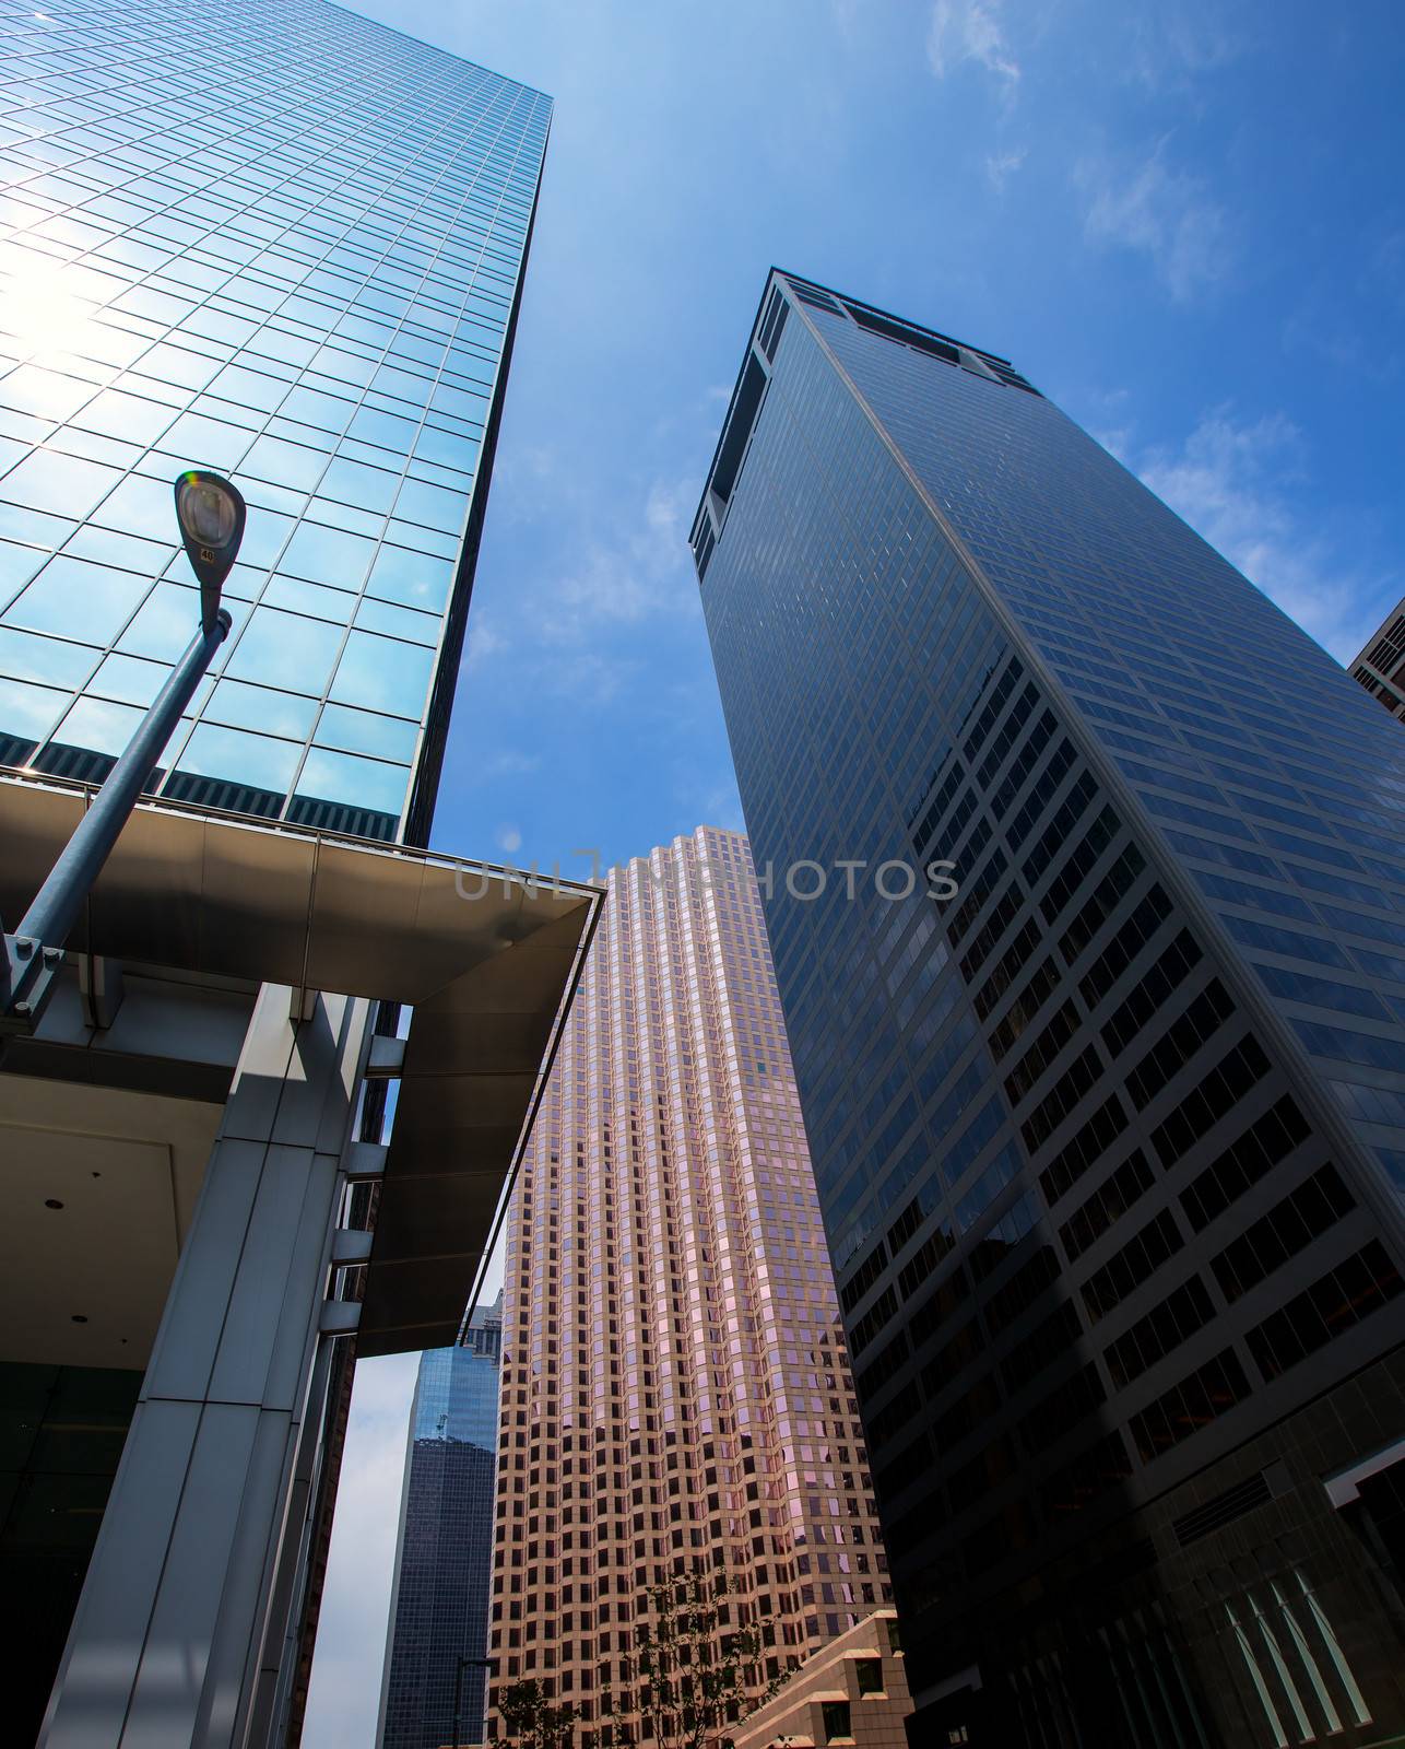
POLYGON ((1150 257, 1178 303, 1209 290, 1234 268, 1234 233, 1204 182, 1166 163, 1166 140, 1127 171, 1085 161, 1075 171, 1089 206, 1085 234, 1150 257))

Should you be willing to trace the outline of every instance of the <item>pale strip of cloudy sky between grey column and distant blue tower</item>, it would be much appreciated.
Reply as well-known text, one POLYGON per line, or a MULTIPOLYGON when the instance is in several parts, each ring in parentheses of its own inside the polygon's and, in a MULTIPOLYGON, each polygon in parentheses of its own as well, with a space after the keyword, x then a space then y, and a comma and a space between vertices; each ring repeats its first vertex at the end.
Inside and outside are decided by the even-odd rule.
POLYGON ((418 1368, 418 1354, 356 1366, 304 1749, 374 1749, 418 1368))

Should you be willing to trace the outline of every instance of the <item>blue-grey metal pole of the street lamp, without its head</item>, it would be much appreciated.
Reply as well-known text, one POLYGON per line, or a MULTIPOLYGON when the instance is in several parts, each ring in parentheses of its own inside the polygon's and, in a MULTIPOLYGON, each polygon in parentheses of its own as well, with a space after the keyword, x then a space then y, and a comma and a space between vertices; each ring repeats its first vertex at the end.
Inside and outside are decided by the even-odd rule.
POLYGON ((16 936, 61 948, 79 920, 84 899, 93 881, 128 824, 136 798, 166 750, 180 715, 194 698, 215 651, 229 631, 229 614, 220 609, 213 626, 197 631, 194 642, 176 663, 171 677, 156 694, 156 701, 136 728, 126 752, 108 773, 93 806, 79 820, 77 831, 63 847, 49 878, 35 894, 33 904, 19 920, 16 936))

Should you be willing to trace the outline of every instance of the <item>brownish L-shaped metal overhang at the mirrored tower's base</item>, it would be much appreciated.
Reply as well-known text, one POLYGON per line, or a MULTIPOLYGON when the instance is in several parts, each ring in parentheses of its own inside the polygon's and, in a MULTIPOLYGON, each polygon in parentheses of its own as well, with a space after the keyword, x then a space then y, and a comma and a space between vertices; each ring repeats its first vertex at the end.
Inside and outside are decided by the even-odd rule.
MULTIPOLYGON (((93 791, 0 770, 0 916, 93 791)), ((601 890, 143 801, 70 951, 412 1009, 356 1347, 451 1343, 516 1172, 601 890)))

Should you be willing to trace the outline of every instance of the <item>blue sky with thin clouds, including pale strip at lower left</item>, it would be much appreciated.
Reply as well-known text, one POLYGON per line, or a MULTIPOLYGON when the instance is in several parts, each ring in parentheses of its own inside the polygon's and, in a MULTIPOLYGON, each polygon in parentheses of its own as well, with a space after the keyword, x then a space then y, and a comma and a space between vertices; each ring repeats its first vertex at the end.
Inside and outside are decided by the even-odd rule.
MULTIPOLYGON (((419 0, 556 98, 435 843, 739 826, 687 553, 776 262, 1010 357, 1339 658, 1405 593, 1398 0, 419 0)), ((308 1749, 370 1749, 412 1364, 358 1373, 308 1749)))

